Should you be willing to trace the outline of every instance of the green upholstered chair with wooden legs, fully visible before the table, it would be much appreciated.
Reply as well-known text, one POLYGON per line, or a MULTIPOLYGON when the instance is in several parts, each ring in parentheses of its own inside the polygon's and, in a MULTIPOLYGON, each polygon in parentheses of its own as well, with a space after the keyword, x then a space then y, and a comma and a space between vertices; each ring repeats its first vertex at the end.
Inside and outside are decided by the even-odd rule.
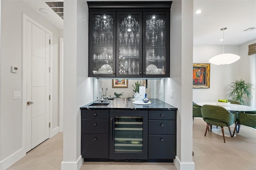
POLYGON ((232 137, 230 125, 232 125, 236 121, 236 113, 230 113, 223 107, 212 105, 202 106, 201 113, 204 121, 207 123, 204 136, 206 136, 209 125, 211 127, 211 131, 212 125, 216 125, 221 127, 224 143, 226 143, 226 141, 223 127, 228 127, 230 137, 232 137))

